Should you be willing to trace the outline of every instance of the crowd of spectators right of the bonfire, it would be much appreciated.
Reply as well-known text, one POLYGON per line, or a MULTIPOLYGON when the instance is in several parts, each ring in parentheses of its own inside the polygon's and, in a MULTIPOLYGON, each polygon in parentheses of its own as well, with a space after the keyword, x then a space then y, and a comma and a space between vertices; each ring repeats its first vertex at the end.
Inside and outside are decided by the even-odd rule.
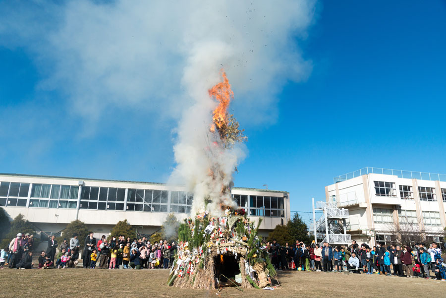
POLYGON ((331 246, 324 242, 320 247, 314 241, 305 245, 297 240, 279 245, 276 240, 266 245, 271 261, 276 269, 298 271, 324 271, 381 274, 400 277, 431 278, 431 272, 437 280, 446 280, 446 263, 438 243, 432 242, 410 245, 389 245, 378 242, 370 247, 352 240, 350 245, 331 246))

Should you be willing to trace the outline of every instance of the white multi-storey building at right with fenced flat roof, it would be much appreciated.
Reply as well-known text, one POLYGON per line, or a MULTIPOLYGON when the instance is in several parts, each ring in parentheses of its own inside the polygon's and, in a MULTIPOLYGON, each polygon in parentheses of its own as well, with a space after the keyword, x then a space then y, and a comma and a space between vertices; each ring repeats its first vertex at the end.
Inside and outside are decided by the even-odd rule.
POLYGON ((417 231, 443 241, 446 175, 367 167, 335 177, 325 192, 327 202, 348 209, 347 233, 358 242, 390 243, 417 231))

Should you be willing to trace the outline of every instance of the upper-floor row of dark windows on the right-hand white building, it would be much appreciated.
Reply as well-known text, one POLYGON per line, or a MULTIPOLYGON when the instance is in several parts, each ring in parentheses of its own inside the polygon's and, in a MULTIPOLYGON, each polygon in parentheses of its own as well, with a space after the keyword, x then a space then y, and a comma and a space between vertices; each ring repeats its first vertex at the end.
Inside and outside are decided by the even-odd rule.
MULTIPOLYGON (((374 181, 375 194, 377 196, 396 197, 396 188, 394 182, 374 181)), ((446 202, 446 188, 442 188, 442 199, 446 202)), ((418 187, 418 193, 421 201, 437 201, 435 187, 418 187)), ((399 195, 401 199, 413 199, 413 190, 410 185, 399 185, 399 195)))

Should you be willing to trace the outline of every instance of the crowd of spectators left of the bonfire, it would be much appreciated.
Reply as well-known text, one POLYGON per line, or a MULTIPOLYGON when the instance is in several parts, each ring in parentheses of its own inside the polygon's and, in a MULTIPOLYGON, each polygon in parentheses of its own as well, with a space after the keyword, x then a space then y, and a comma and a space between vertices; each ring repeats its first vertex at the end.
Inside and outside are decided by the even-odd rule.
MULTIPOLYGON (((37 264, 33 262, 32 246, 32 235, 26 234, 23 238, 18 233, 9 246, 1 250, 0 268, 63 269, 75 268, 79 263, 80 245, 77 234, 69 241, 63 239, 60 245, 52 236, 48 240, 47 249, 40 252, 37 264)), ((90 232, 82 250, 82 265, 83 268, 91 269, 168 269, 172 266, 175 253, 175 242, 160 240, 152 244, 146 237, 131 239, 122 235, 117 238, 112 236, 109 240, 103 235, 97 240, 93 232, 90 232)))

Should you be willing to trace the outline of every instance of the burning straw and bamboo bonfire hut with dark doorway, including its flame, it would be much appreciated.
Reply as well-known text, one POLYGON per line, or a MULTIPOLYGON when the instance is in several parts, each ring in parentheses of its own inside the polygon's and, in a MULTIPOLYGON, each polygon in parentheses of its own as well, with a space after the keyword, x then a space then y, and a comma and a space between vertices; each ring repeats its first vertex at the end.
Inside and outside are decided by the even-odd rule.
MULTIPOLYGON (((211 144, 204 148, 210 161, 209 177, 219 181, 220 193, 209 196, 204 212, 197 213, 182 223, 178 231, 178 249, 167 284, 184 289, 218 289, 222 286, 264 288, 272 285, 277 273, 271 264, 266 246, 257 235, 261 220, 255 225, 247 218, 244 209, 237 209, 231 198, 231 177, 222 170, 218 155, 230 150, 247 137, 227 107, 233 97, 232 90, 222 71, 223 82, 209 90, 218 101, 212 113, 211 144), (217 207, 215 207, 217 206, 217 207)), ((234 169, 236 171, 236 169, 234 169)))

